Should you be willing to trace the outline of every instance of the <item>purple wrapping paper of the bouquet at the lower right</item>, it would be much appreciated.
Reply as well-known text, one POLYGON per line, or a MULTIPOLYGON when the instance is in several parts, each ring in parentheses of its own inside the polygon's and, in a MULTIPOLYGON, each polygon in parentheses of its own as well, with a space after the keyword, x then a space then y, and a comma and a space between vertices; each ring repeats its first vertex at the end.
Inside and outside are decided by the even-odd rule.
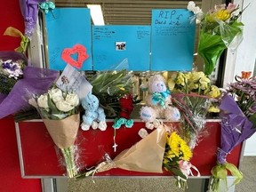
POLYGON ((256 132, 256 128, 252 127, 252 123, 244 116, 243 111, 230 95, 222 98, 220 109, 224 113, 221 114, 220 148, 217 153, 217 161, 219 164, 225 164, 228 153, 236 145, 250 138, 256 132))

